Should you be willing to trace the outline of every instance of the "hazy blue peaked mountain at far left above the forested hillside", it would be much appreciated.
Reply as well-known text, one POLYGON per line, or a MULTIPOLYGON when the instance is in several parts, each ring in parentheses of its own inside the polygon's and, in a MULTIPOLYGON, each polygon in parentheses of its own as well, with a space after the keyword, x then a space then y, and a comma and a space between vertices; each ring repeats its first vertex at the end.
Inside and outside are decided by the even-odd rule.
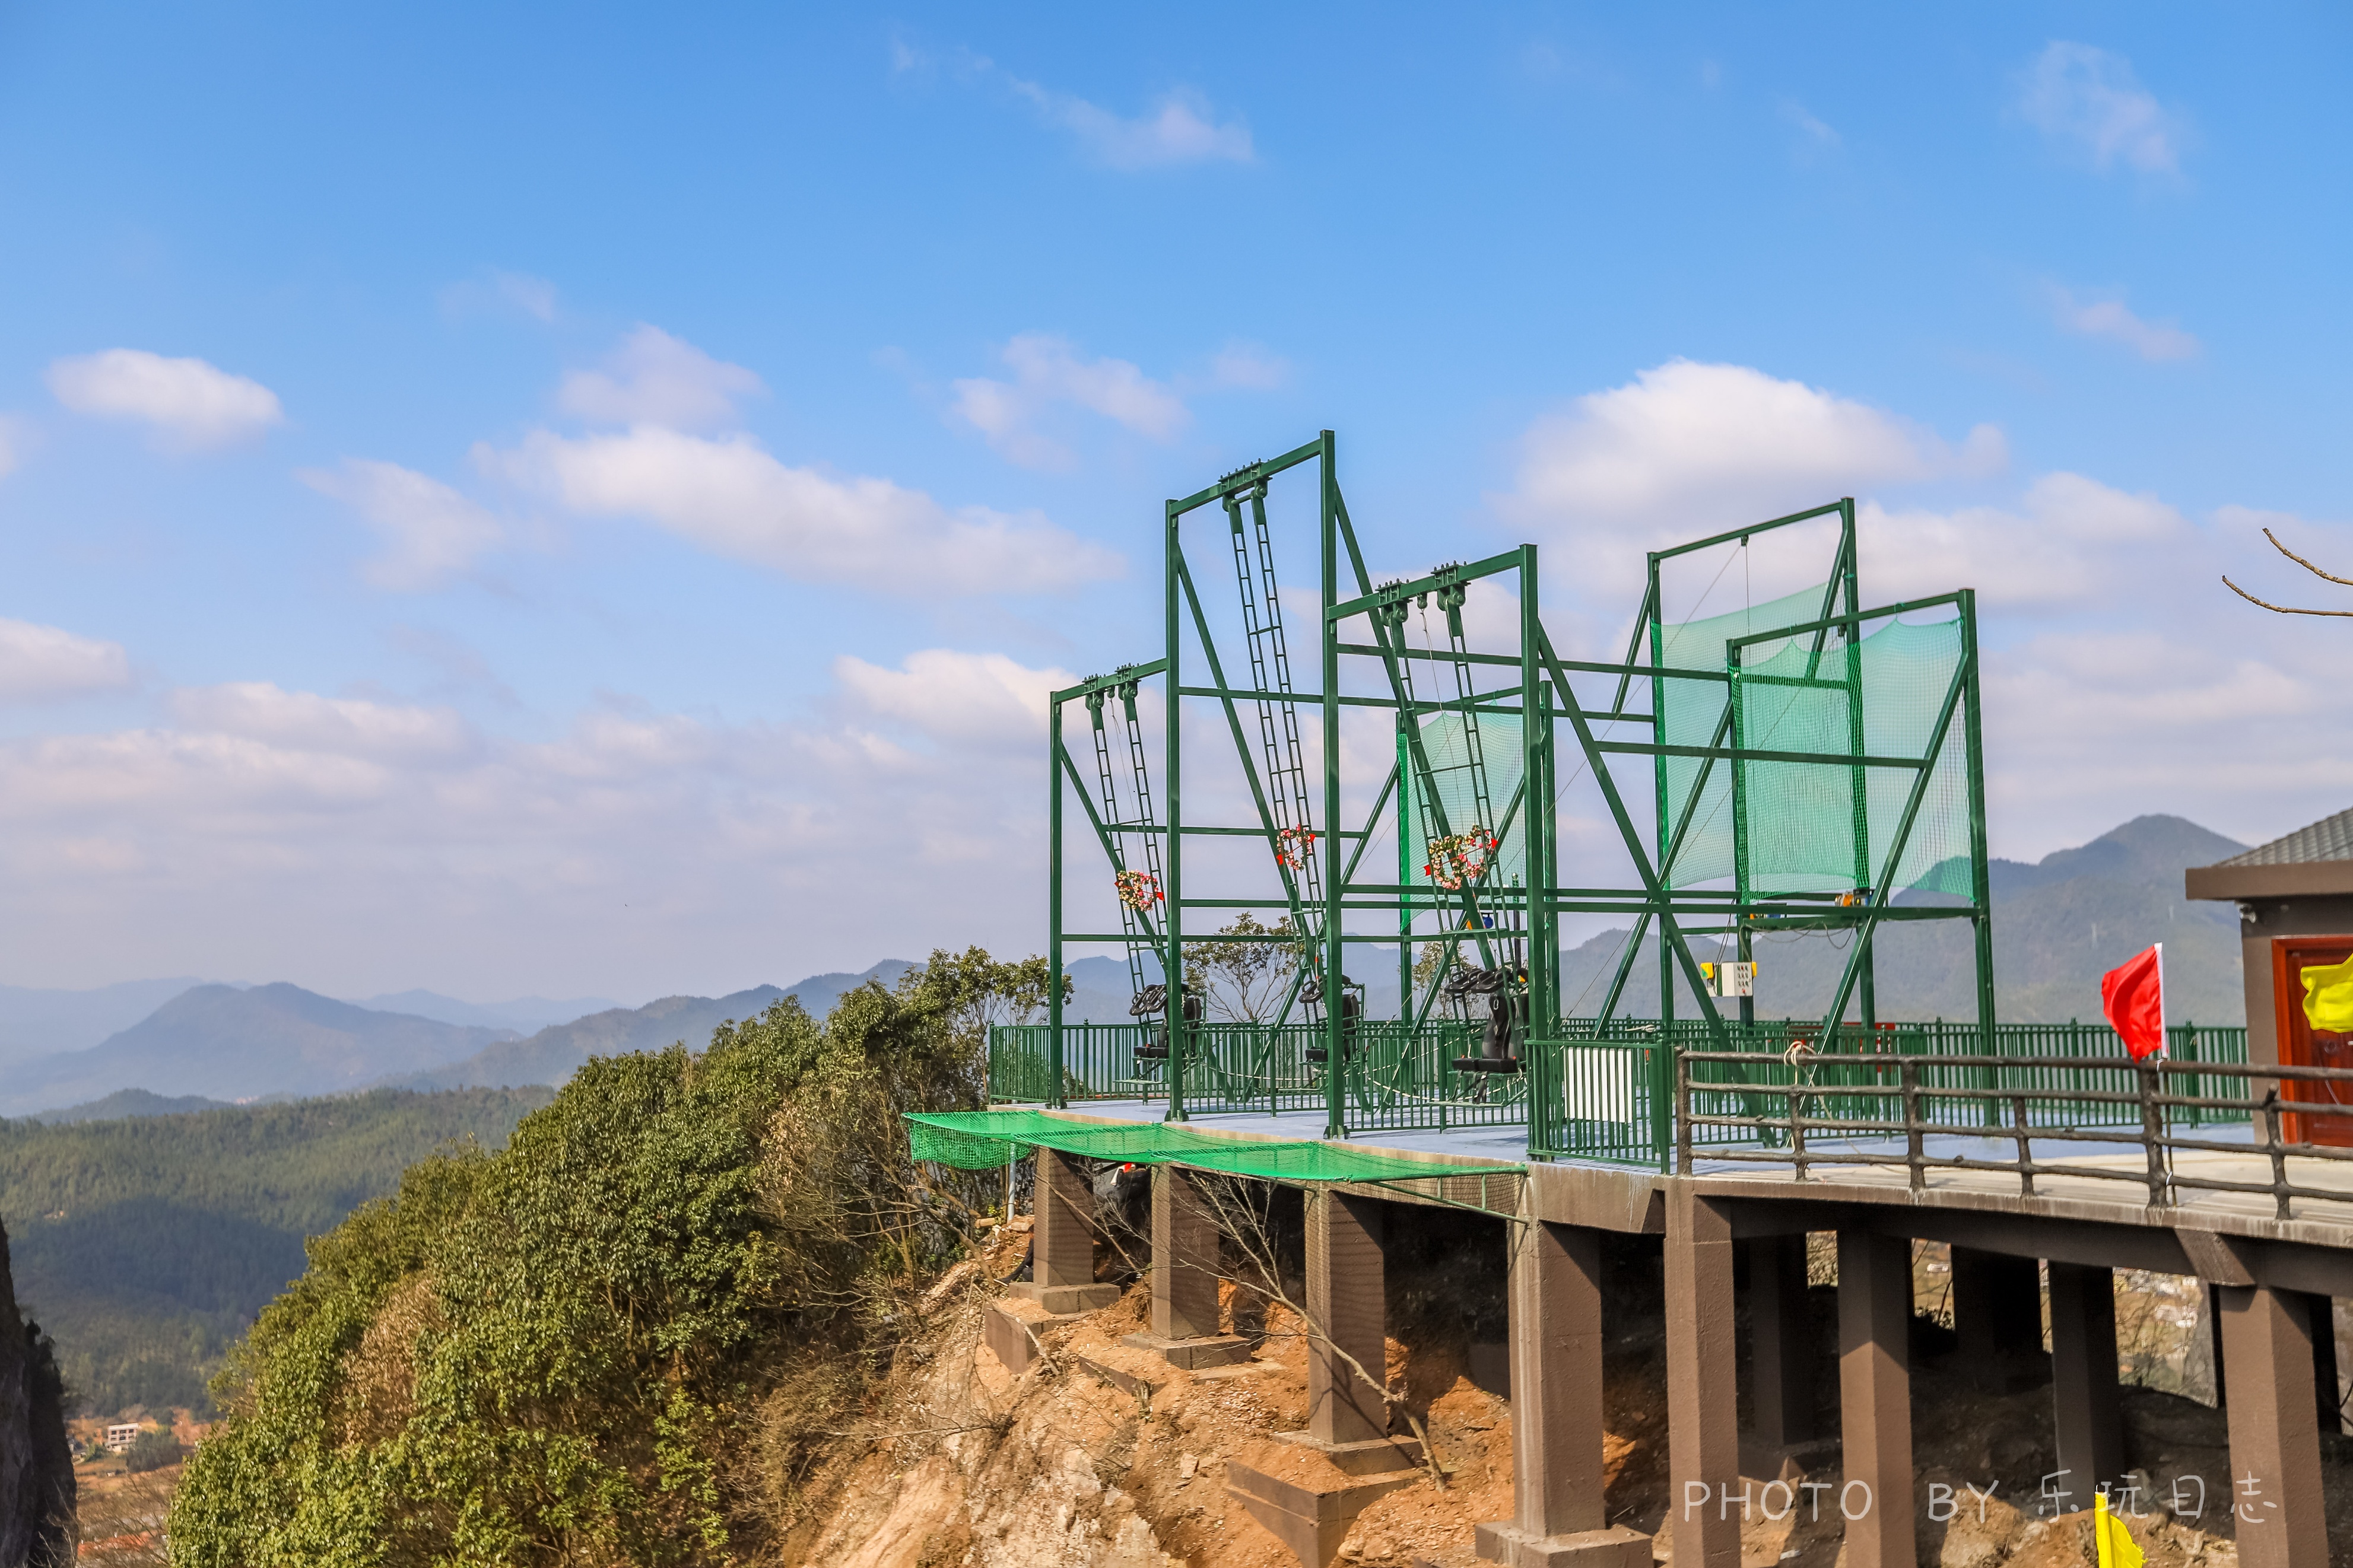
POLYGON ((198 985, 89 1051, 40 1056, 0 1079, 0 1117, 118 1088, 252 1100, 360 1088, 513 1039, 513 1030, 374 1013, 299 985, 198 985))

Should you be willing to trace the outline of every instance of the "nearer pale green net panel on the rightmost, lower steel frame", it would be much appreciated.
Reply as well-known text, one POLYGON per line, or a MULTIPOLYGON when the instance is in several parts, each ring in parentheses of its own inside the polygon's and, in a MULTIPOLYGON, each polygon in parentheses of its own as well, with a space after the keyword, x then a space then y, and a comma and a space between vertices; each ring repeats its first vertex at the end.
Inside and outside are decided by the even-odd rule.
MULTIPOLYGON (((1960 668, 1960 621, 1887 621, 1852 649, 1833 632, 1751 644, 1734 686, 1744 748, 1922 757, 1960 668), (1809 675, 1812 670, 1812 675, 1809 675)), ((1955 710, 1894 886, 1969 893, 1965 710, 1955 710)), ((1908 769, 1751 762, 1741 769, 1746 879, 1755 893, 1833 893, 1878 882, 1913 788, 1908 769)))

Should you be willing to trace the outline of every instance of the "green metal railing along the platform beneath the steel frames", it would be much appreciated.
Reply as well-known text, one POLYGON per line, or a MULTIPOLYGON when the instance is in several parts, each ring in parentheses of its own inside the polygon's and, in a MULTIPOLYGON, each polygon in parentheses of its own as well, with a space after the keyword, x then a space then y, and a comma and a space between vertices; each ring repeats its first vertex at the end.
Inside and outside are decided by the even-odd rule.
MULTIPOLYGON (((1144 1025, 1064 1025, 1061 1098, 1167 1100, 1167 1060, 1144 1025)), ((1047 1025, 998 1025, 988 1034, 988 1093, 998 1105, 1054 1098, 1047 1025)), ((1537 1159, 1600 1159, 1666 1168, 1675 1157, 1675 1067, 1682 1063, 1689 1126, 1682 1135, 1708 1147, 1781 1147, 1769 1107, 1786 1107, 1788 1086, 1807 1086, 1809 1114, 1852 1124, 1901 1121, 1904 1084, 1918 1114, 1953 1133, 1979 1128, 2120 1128, 2139 1138, 2137 1074, 2115 1030, 2085 1023, 2005 1023, 1993 1053, 1974 1023, 1847 1025, 1828 1039, 1819 1023, 1727 1025, 1715 1039, 1699 1018, 1666 1025, 1614 1018, 1562 1018, 1527 1048, 1525 1072, 1457 1072, 1478 1053, 1471 1025, 1402 1020, 1358 1025, 1344 1051, 1341 1093, 1351 1131, 1409 1131, 1527 1124, 1537 1159), (1725 1051, 1729 1046, 1729 1051, 1725 1051), (1845 1060, 1859 1058, 1859 1060, 1845 1060), (1894 1058, 1929 1058, 1899 1072, 1894 1058), (2080 1065, 2078 1065, 2080 1063, 2080 1065)), ((1191 1112, 1318 1110, 1327 1105, 1325 1032, 1320 1025, 1195 1025, 1186 1046, 1184 1105, 1191 1112)), ((2200 1105, 2212 1091, 2198 1063, 2238 1067, 2247 1030, 2177 1025, 2167 1030, 2169 1077, 2188 1103, 2167 1107, 2167 1128, 2245 1126, 2238 1105, 2200 1105)))

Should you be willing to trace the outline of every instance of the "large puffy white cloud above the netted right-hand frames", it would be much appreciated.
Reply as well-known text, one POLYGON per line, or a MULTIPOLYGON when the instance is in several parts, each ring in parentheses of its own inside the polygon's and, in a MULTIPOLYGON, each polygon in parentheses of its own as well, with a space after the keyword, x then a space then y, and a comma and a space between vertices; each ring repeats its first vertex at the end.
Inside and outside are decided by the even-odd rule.
MULTIPOLYGON (((1577 524, 1586 541, 1666 543, 1873 484, 1984 475, 2005 463, 1993 425, 1953 447, 1802 381, 1671 360, 1537 418, 1520 442, 1518 484, 1497 505, 1520 524, 1577 524)), ((1612 576, 1624 569, 1621 559, 1612 576)))

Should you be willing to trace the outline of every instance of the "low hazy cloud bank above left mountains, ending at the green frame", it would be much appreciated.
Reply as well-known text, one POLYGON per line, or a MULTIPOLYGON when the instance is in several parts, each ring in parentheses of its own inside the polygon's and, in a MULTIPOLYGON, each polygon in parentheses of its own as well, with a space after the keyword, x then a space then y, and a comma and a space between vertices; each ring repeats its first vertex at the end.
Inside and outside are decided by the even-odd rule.
POLYGON ((21 893, 0 940, 73 983, 544 976, 640 997, 934 943, 1031 952, 1056 682, 932 649, 845 665, 807 722, 605 696, 544 738, 398 698, 186 689, 151 726, 0 736, 0 875, 21 893))

